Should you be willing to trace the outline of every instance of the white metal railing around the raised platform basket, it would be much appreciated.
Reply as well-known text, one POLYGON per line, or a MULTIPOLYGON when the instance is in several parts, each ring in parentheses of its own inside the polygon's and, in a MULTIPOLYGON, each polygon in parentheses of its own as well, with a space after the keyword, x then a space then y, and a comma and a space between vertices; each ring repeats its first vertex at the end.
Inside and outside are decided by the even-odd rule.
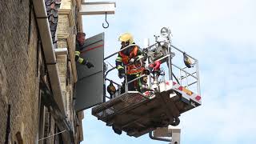
MULTIPOLYGON (((162 41, 162 42, 166 42, 166 41, 162 41)), ((144 49, 148 49, 150 50, 150 48, 154 47, 154 46, 157 46, 160 42, 156 42, 154 43, 153 45, 150 45, 144 49)), ((138 45, 130 45, 130 46, 138 46, 138 45)), ((130 46, 126 46, 124 47, 122 50, 126 50, 128 49, 130 46)), ((139 48, 139 46, 138 46, 139 48)), ((121 52, 122 50, 118 50, 117 52, 115 52, 114 54, 110 54, 109 56, 107 56, 106 58, 104 58, 104 61, 106 61, 108 58, 111 58, 113 57, 115 54, 118 54, 119 52, 121 52)), ((168 66, 168 69, 169 69, 169 79, 171 81, 173 81, 172 77, 174 76, 175 80, 178 81, 178 83, 181 85, 181 86, 184 86, 186 87, 186 89, 190 89, 191 86, 194 86, 196 85, 196 88, 197 88, 197 92, 198 94, 201 94, 200 92, 200 80, 199 80, 199 70, 198 70, 198 60, 196 58, 193 58, 191 57, 189 54, 186 54, 186 56, 188 58, 191 58, 193 60, 193 66, 189 69, 187 67, 183 67, 182 66, 178 66, 176 64, 174 64, 172 62, 172 58, 174 58, 174 53, 173 51, 177 51, 178 53, 180 54, 186 54, 185 51, 182 51, 180 49, 178 49, 176 46, 173 46, 170 44, 169 42, 169 50, 168 50, 168 54, 166 54, 165 56, 163 56, 162 58, 158 58, 157 60, 158 61, 161 61, 162 59, 164 58, 167 58, 167 66, 168 66), (174 74, 174 71, 173 69, 177 69, 178 70, 178 74, 174 74), (175 75, 179 75, 178 78, 175 76, 175 75), (191 79, 193 79, 193 81, 191 82, 191 79), (184 82, 185 81, 185 82, 184 82)), ((156 60, 156 61, 157 61, 156 60)), ((182 61, 182 59, 181 59, 182 61)), ((127 66, 130 66, 130 64, 127 64, 126 66, 124 66, 124 69, 125 69, 125 73, 126 73, 126 67, 127 66)), ((146 75, 145 74, 142 74, 141 76, 139 76, 138 78, 134 78, 133 80, 131 81, 127 81, 127 75, 125 76, 125 83, 124 84, 119 84, 118 82, 114 82, 113 80, 110 80, 109 78, 106 78, 107 75, 110 73, 110 71, 112 70, 115 70, 117 67, 114 66, 112 67, 110 70, 106 70, 105 74, 104 74, 104 79, 105 79, 105 84, 106 84, 106 81, 111 81, 113 82, 115 85, 117 85, 118 87, 122 87, 122 86, 125 86, 125 93, 128 92, 128 84, 130 82, 134 82, 136 80, 138 80, 139 78, 142 78, 142 77, 145 77, 146 75)), ((149 78, 150 81, 151 81, 151 78, 149 78)), ((105 94, 105 97, 106 97, 106 94, 105 94)), ((106 97, 108 98, 108 97, 106 97)))

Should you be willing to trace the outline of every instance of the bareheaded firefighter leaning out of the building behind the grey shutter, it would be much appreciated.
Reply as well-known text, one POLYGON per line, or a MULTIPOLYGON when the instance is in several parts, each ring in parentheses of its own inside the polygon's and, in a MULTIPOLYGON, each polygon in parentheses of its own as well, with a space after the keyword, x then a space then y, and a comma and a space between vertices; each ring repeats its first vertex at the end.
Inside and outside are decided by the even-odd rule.
POLYGON ((88 60, 85 60, 84 58, 80 57, 80 51, 85 48, 85 41, 86 41, 86 34, 82 32, 78 32, 77 42, 75 46, 75 61, 82 65, 86 65, 90 69, 91 67, 94 67, 94 65, 88 60))

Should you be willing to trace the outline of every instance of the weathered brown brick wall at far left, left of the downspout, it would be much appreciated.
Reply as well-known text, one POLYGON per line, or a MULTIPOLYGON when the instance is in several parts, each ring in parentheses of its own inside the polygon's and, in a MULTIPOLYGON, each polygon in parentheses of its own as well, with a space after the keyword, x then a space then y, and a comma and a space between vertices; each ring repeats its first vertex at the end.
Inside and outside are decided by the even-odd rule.
POLYGON ((30 23, 29 0, 0 1, 0 7, 0 143, 5 141, 8 104, 11 142, 17 140, 15 134, 20 132, 24 143, 35 143, 39 77, 34 13, 32 10, 30 23))

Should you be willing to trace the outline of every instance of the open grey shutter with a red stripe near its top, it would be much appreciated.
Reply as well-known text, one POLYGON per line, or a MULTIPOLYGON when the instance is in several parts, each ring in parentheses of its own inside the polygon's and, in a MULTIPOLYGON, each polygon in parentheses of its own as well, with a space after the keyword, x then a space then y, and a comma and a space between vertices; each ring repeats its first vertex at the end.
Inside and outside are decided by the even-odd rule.
POLYGON ((75 85, 74 102, 77 111, 103 102, 104 33, 86 38, 85 45, 80 57, 92 62, 94 67, 88 69, 77 62, 78 82, 75 85))

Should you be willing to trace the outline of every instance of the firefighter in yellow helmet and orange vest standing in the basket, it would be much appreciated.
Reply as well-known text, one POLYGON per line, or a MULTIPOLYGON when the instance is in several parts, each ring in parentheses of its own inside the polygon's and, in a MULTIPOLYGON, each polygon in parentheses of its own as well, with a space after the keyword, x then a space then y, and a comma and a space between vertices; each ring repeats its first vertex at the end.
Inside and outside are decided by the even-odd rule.
MULTIPOLYGON (((118 38, 118 40, 121 42, 122 45, 121 50, 126 46, 135 44, 133 36, 129 33, 122 34, 118 38)), ((125 76, 127 76, 127 82, 130 82, 134 78, 138 78, 142 74, 143 70, 145 70, 142 66, 142 63, 138 62, 138 59, 142 59, 142 57, 142 51, 139 50, 138 46, 130 46, 126 50, 122 50, 121 52, 119 52, 118 58, 116 58, 115 60, 118 69, 118 77, 124 78, 125 76), (126 73, 124 66, 126 66, 126 73)), ((123 82, 123 84, 124 83, 125 82, 123 82)), ((140 80, 130 82, 128 84, 128 90, 140 91, 140 80)), ((122 86, 121 93, 124 93, 124 91, 124 86, 122 86)))

